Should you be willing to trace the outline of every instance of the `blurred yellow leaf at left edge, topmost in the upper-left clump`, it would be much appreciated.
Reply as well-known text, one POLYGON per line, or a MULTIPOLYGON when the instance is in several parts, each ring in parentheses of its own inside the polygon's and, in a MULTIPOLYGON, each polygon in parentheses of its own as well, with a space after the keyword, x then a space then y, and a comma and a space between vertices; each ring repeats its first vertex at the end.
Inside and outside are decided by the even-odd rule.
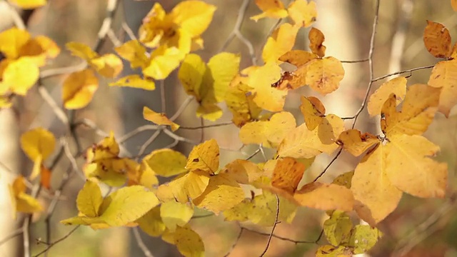
POLYGON ((18 59, 19 52, 30 39, 29 31, 16 27, 7 29, 0 33, 0 51, 7 59, 18 59))

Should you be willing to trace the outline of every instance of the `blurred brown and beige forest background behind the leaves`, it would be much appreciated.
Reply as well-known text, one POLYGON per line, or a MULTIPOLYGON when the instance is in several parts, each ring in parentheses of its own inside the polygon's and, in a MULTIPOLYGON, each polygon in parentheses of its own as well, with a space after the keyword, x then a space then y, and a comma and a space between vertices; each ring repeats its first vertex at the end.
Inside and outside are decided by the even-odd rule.
MULTIPOLYGON (((151 9, 156 1, 133 1, 119 0, 118 8, 114 15, 113 32, 119 41, 129 40, 124 29, 123 21, 136 33, 141 20, 151 9)), ((158 1, 167 11, 171 10, 179 1, 158 1)), ((221 51, 229 35, 233 31, 240 8, 246 4, 243 0, 217 1, 206 0, 209 4, 217 6, 214 20, 209 29, 203 34, 203 50, 198 51, 206 61, 221 51)), ((285 1, 285 4, 287 1, 285 1)), ((368 57, 369 41, 373 27, 375 1, 368 0, 316 0, 318 6, 318 19, 313 26, 323 31, 326 36, 324 45, 327 46, 326 54, 344 61, 361 60, 368 57)), ((61 49, 69 41, 77 41, 93 46, 97 39, 97 33, 106 16, 107 1, 99 0, 49 0, 48 4, 33 11, 27 20, 27 28, 33 35, 44 34, 54 39, 61 49)), ((277 20, 261 19, 257 23, 249 19, 258 14, 260 10, 254 1, 248 1, 246 14, 240 32, 246 39, 251 41, 257 57, 261 56, 261 49, 271 29, 277 20)), ((11 10, 6 1, 0 1, 0 30, 13 26, 10 19, 11 10)), ((27 15, 27 14, 24 14, 27 15)), ((423 46, 423 28, 426 20, 432 20, 444 24, 457 39, 457 14, 451 9, 450 1, 428 0, 382 0, 379 12, 379 23, 376 34, 376 46, 374 51, 374 76, 382 76, 395 71, 412 69, 418 66, 429 66, 436 63, 423 46)), ((113 52, 113 47, 119 44, 116 40, 104 41, 101 53, 113 52)), ((294 49, 307 49, 308 29, 302 29, 298 34, 297 44, 294 49)), ((241 69, 251 66, 251 57, 248 48, 238 39, 233 39, 225 51, 241 54, 241 69)), ((258 58, 259 59, 259 58, 258 58)), ((79 64, 80 60, 70 56, 69 51, 63 50, 59 57, 44 69, 68 67, 79 64)), ((326 106, 327 113, 338 116, 353 116, 360 107, 361 101, 368 85, 368 64, 343 64, 346 71, 340 89, 326 97, 318 96, 326 106)), ((426 83, 430 75, 430 69, 413 72, 408 85, 426 83)), ((130 74, 128 65, 124 64, 124 74, 130 74)), ((163 83, 157 81, 155 91, 143 91, 139 89, 119 89, 107 86, 107 82, 101 82, 99 90, 94 96, 90 106, 76 111, 75 120, 89 119, 99 128, 94 130, 81 126, 77 130, 81 138, 83 148, 90 147, 93 143, 103 138, 104 133, 113 130, 116 136, 124 135, 135 128, 147 124, 142 116, 143 106, 159 111, 166 109, 168 115, 172 115, 185 101, 186 95, 175 71, 169 79, 163 83), (161 99, 166 101, 163 102, 161 99)), ((408 74, 403 74, 404 76, 408 74)), ((54 76, 43 81, 44 86, 51 96, 60 103, 61 82, 65 76, 54 76)), ((376 90, 382 81, 373 86, 376 90)), ((298 106, 301 95, 315 95, 308 89, 300 89, 289 93, 286 101, 286 110, 296 114, 297 120, 301 116, 298 106)), ((63 136, 66 129, 59 119, 56 119, 51 107, 39 96, 36 87, 23 99, 16 99, 14 109, 0 110, 0 161, 8 167, 0 166, 0 240, 8 236, 11 231, 19 228, 24 217, 14 221, 11 218, 11 202, 7 184, 17 174, 29 174, 32 163, 27 161, 19 149, 19 135, 28 129, 42 126, 49 129, 56 136, 63 136), (11 172, 12 171, 12 172, 11 172)), ((176 123, 181 126, 201 126, 201 120, 196 118, 195 103, 186 106, 186 110, 177 119, 176 123)), ((226 110, 226 109, 224 109, 226 110)), ((361 131, 378 133, 376 119, 368 119, 363 114, 357 123, 361 131)), ((227 112, 216 121, 215 124, 228 122, 231 114, 227 112)), ((205 121, 205 124, 211 124, 205 121)), ((139 136, 125 143, 131 153, 137 153, 139 147, 151 137, 154 131, 145 131, 139 136)), ((370 256, 457 256, 457 208, 455 203, 455 167, 457 154, 457 116, 445 119, 438 114, 436 121, 431 125, 426 136, 441 147, 440 161, 446 161, 449 165, 449 186, 446 199, 419 199, 411 196, 403 196, 401 205, 385 221, 379 224, 384 237, 378 245, 371 250, 370 256)), ((216 138, 221 148, 221 166, 234 158, 246 158, 243 153, 252 153, 256 148, 244 147, 238 151, 241 142, 238 139, 238 129, 235 126, 221 126, 201 130, 178 131, 180 136, 194 141, 216 138)), ((146 152, 154 148, 161 148, 173 143, 167 136, 157 138, 149 146, 146 152)), ((187 154, 192 145, 180 142, 176 149, 187 154)), ((311 171, 306 172, 303 181, 309 181, 316 177, 328 162, 331 156, 320 156, 314 163, 311 171)), ((351 171, 354 162, 348 154, 343 153, 331 169, 323 176, 322 181, 331 181, 339 174, 351 171)), ((262 161, 260 156, 253 161, 262 161)), ((78 159, 79 166, 84 163, 78 159)), ((53 186, 59 185, 64 176, 69 161, 65 158, 57 164, 53 175, 53 186)), ((76 214, 75 198, 84 183, 81 176, 73 176, 64 187, 56 211, 51 216, 51 241, 65 236, 71 227, 59 223, 61 219, 69 218, 76 214)), ((51 196, 46 192, 41 193, 41 201, 49 204, 51 196)), ((201 211, 204 214, 204 211, 201 211)), ((39 253, 45 246, 37 245, 36 238, 43 238, 45 223, 43 216, 35 215, 31 234, 32 254, 39 253)), ((314 240, 321 232, 321 223, 326 214, 322 211, 314 211, 301 208, 292 224, 281 223, 276 227, 276 235, 296 240, 314 240)), ((223 222, 221 216, 209 216, 196 218, 191 221, 193 226, 204 240, 206 256, 224 256, 231 251, 231 246, 239 233, 239 227, 234 222, 223 222)), ((256 231, 269 233, 271 228, 250 226, 256 231)), ((174 246, 164 243, 160 238, 151 238, 141 235, 144 244, 156 257, 179 256, 174 246)), ((249 231, 243 231, 238 244, 230 256, 258 256, 266 246, 267 236, 249 231)), ((22 256, 21 236, 7 242, 1 242, 0 256, 22 256)), ((314 243, 295 244, 273 238, 266 256, 313 256, 318 246, 314 243)), ((61 241, 51 248, 49 256, 144 256, 138 246, 138 241, 129 228, 110 228, 102 231, 92 231, 91 228, 81 227, 69 238, 61 241)))

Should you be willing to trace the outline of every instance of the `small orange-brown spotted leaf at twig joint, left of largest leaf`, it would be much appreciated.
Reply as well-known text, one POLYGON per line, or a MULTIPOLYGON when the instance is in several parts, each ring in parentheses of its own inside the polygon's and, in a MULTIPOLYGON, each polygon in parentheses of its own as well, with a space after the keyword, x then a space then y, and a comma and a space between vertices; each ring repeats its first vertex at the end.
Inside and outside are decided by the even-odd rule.
POLYGON ((378 137, 371 133, 362 133, 357 129, 343 131, 338 137, 338 144, 353 156, 360 156, 376 143, 380 143, 378 137))

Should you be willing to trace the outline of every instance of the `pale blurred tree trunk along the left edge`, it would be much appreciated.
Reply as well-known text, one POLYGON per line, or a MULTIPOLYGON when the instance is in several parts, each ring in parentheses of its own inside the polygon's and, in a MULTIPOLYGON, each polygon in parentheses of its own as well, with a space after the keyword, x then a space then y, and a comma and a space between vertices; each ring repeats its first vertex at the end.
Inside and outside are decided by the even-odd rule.
MULTIPOLYGON (((9 6, 6 1, 0 2, 0 31, 9 29, 12 25, 9 6)), ((11 199, 8 184, 19 173, 19 126, 12 109, 0 111, 0 240, 11 235, 15 229, 12 222, 11 199), (12 172, 11 172, 12 171, 12 172)), ((0 246, 1 256, 19 256, 16 251, 19 245, 19 236, 0 246)))

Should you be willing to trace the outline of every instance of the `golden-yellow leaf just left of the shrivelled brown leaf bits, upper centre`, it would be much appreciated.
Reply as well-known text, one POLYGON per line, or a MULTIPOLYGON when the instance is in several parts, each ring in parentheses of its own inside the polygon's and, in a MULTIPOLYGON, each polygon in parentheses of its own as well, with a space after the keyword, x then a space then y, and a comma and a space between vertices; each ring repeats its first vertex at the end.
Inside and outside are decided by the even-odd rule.
POLYGON ((287 91, 271 86, 281 79, 281 68, 275 63, 269 63, 250 74, 248 86, 253 88, 253 101, 257 106, 267 111, 282 111, 287 91))

